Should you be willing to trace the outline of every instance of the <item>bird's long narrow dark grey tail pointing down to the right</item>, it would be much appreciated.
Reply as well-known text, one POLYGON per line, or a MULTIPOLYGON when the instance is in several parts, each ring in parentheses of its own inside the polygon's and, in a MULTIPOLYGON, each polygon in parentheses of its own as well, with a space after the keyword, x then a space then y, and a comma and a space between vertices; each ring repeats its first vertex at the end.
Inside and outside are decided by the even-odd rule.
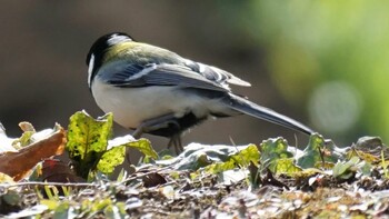
POLYGON ((280 115, 271 109, 256 104, 239 96, 229 93, 229 96, 226 97, 223 101, 226 101, 226 103, 233 110, 237 110, 245 115, 249 115, 258 119, 263 119, 266 121, 280 125, 292 130, 301 131, 307 135, 312 135, 315 132, 312 129, 296 121, 295 119, 280 115))

